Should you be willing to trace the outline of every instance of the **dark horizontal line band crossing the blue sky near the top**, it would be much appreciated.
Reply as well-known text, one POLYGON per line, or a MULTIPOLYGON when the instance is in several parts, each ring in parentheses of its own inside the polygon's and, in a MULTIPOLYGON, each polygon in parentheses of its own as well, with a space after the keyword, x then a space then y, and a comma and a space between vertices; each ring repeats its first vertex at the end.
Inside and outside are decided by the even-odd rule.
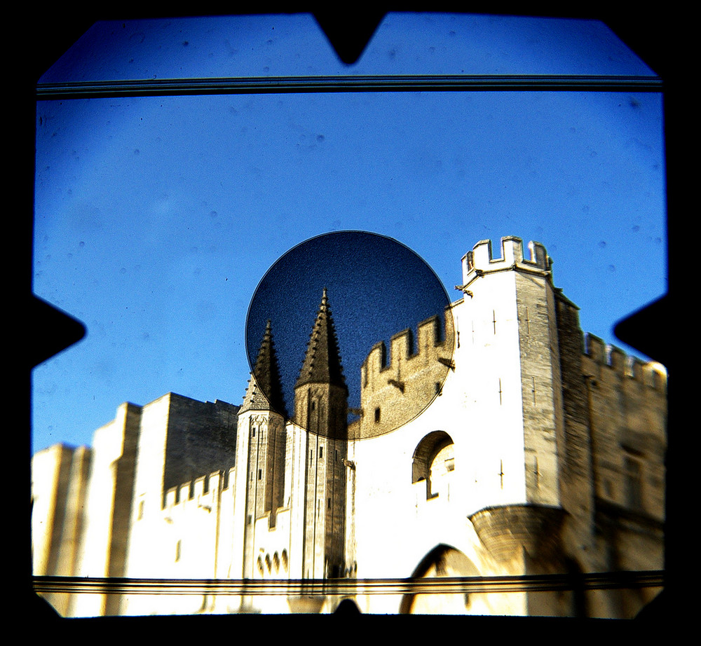
POLYGON ((163 78, 126 81, 38 83, 36 98, 86 99, 292 92, 475 92, 475 91, 661 92, 658 76, 392 75, 392 76, 242 76, 163 78))

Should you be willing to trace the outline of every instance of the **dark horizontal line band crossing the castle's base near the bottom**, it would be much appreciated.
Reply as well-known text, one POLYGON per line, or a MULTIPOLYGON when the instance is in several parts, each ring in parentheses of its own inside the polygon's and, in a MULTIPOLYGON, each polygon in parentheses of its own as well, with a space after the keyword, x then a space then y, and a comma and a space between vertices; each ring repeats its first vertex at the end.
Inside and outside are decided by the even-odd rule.
POLYGON ((544 592, 572 589, 658 588, 661 570, 584 575, 440 577, 421 579, 120 579, 33 577, 38 593, 334 595, 544 592))

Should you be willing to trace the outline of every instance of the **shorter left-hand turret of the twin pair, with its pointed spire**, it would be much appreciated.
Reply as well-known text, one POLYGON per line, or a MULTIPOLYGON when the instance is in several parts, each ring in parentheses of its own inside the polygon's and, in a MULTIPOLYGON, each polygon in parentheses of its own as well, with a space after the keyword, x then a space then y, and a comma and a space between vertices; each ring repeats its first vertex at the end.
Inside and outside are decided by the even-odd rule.
POLYGON ((235 544, 234 554, 243 554, 245 578, 252 578, 257 519, 268 516, 268 528, 275 527, 276 511, 283 505, 286 419, 280 369, 268 321, 238 415, 234 540, 240 546, 235 544))

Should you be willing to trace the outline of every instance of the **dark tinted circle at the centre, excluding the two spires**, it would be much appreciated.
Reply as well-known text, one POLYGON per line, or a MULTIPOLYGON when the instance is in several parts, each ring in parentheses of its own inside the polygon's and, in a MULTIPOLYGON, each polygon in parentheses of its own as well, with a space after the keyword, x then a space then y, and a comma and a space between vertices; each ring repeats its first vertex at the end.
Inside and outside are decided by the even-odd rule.
MULTIPOLYGON (((306 240, 278 259, 259 283, 248 310, 246 350, 251 371, 255 369, 268 329, 279 366, 284 408, 290 419, 294 420, 295 384, 322 298, 336 331, 348 387, 349 422, 356 422, 351 427, 358 429, 362 420, 365 427, 362 437, 371 437, 395 429, 426 408, 440 392, 448 370, 446 366, 452 357, 448 295, 426 261, 397 240, 365 231, 340 231, 306 240), (385 386, 392 380, 391 369, 397 360, 392 356, 392 338, 408 329, 410 332, 405 335, 407 355, 418 356, 420 334, 424 339, 422 343, 426 344, 427 338, 424 332, 418 331, 418 324, 432 317, 437 317, 436 338, 440 337, 443 356, 441 362, 434 362, 430 384, 418 392, 408 386, 404 388, 404 383, 397 383, 395 379, 395 385, 385 388, 380 399, 364 397, 365 407, 372 405, 372 410, 361 410, 361 369, 371 350, 376 348, 374 352, 379 355, 377 344, 385 344, 381 364, 375 362, 370 375, 375 385, 381 380, 385 386), (449 318, 449 334, 446 334, 446 317, 449 318), (393 413, 382 419, 381 412, 376 410, 380 408, 378 402, 384 403, 387 397, 394 396, 398 399, 390 402, 393 408, 405 412, 399 418, 393 413), (402 405, 402 398, 404 404, 409 402, 410 405, 402 405)), ((402 361, 405 370, 409 369, 410 359, 402 361)), ((366 393, 369 392, 367 380, 365 376, 366 393)), ((280 401, 279 394, 265 394, 268 399, 280 401)), ((389 404, 385 408, 390 411, 389 404)), ((304 426, 302 420, 294 421, 304 426)))

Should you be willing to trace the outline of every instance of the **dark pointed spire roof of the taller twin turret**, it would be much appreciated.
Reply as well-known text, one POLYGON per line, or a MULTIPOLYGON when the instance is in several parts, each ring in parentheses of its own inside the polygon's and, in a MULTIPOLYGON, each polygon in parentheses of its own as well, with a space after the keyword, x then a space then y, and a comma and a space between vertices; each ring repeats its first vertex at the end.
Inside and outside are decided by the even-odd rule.
POLYGON ((294 387, 307 383, 330 383, 348 390, 326 288, 311 331, 304 363, 294 387))

